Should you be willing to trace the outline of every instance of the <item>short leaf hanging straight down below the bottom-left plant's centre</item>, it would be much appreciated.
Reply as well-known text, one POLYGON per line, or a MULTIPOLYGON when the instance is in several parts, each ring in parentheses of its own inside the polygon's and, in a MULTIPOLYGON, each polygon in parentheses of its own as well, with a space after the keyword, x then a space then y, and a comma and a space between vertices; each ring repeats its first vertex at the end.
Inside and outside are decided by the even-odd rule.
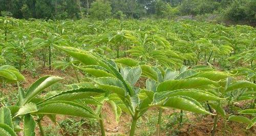
POLYGON ((36 123, 31 115, 25 115, 24 117, 24 136, 34 136, 35 135, 36 123))

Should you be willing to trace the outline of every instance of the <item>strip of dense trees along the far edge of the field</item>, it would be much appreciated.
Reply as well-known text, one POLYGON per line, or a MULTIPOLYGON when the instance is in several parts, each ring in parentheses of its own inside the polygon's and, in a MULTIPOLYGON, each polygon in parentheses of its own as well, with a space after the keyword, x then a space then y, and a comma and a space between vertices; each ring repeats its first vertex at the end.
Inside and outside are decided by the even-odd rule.
POLYGON ((15 18, 175 18, 218 14, 229 20, 255 21, 253 0, 1 0, 2 16, 15 18))

